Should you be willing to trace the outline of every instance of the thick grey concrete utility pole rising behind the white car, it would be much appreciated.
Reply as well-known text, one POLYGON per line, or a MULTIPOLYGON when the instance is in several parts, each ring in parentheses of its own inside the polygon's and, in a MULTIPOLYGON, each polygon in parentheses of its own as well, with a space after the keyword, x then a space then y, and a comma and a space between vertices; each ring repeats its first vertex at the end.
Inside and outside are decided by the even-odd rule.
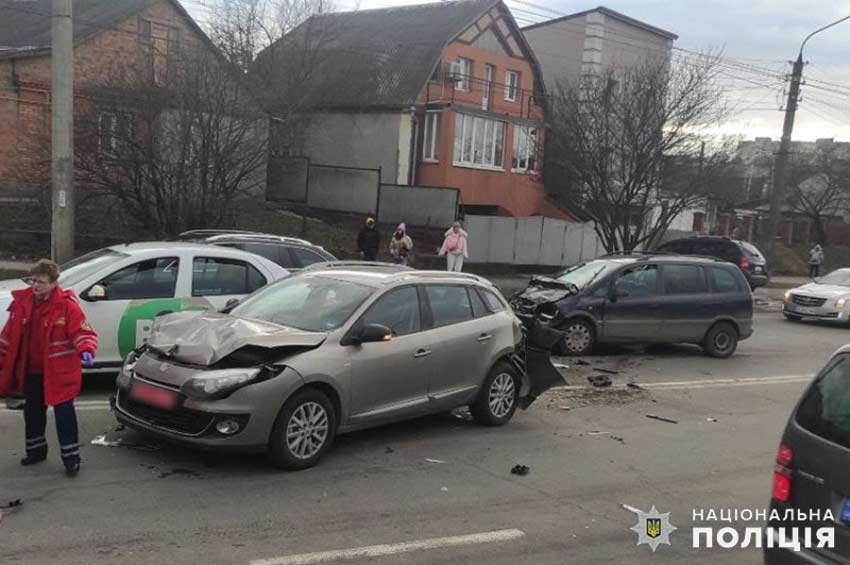
POLYGON ((72 0, 53 0, 50 29, 50 112, 53 205, 50 255, 74 257, 74 25, 72 0))

